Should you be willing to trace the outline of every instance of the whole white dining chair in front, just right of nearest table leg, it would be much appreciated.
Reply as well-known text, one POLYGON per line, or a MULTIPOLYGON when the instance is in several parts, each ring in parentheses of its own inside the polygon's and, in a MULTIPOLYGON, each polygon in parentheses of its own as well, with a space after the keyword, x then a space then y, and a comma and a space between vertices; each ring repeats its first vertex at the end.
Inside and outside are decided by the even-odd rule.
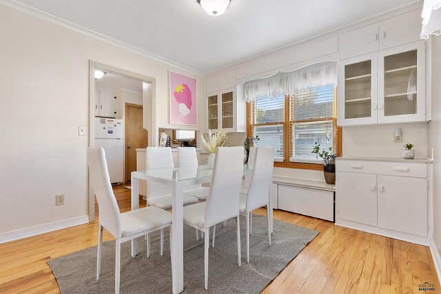
POLYGON ((207 201, 183 209, 186 224, 204 232, 205 237, 205 290, 208 289, 209 228, 236 218, 237 253, 240 266, 239 192, 243 174, 243 147, 218 147, 214 160, 212 182, 207 201))

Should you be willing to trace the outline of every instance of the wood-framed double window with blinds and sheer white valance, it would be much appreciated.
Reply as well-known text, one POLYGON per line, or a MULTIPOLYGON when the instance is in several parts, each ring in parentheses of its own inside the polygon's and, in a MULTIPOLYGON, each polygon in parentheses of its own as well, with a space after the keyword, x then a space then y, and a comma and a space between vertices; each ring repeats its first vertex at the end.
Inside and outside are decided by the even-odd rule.
POLYGON ((274 147, 276 166, 320 169, 311 153, 316 142, 338 154, 336 63, 246 83, 245 96, 249 136, 259 136, 258 147, 274 147))

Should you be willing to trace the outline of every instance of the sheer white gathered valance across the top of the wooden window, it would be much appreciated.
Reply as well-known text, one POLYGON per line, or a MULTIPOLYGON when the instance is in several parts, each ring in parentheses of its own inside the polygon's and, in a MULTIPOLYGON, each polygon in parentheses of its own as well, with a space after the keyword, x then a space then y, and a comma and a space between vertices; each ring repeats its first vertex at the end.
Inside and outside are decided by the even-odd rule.
POLYGON ((291 94, 296 90, 329 83, 336 85, 336 65, 335 61, 316 63, 294 72, 278 73, 269 78, 249 81, 245 83, 245 100, 255 101, 258 95, 275 98, 280 94, 291 94))

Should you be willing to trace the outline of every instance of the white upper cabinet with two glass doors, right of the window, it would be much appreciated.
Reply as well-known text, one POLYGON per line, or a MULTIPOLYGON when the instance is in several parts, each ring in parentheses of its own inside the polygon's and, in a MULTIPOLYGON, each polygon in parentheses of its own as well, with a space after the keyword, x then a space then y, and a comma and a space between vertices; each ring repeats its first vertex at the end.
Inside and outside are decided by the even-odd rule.
POLYGON ((340 61, 338 125, 425 121, 425 54, 419 41, 340 61))

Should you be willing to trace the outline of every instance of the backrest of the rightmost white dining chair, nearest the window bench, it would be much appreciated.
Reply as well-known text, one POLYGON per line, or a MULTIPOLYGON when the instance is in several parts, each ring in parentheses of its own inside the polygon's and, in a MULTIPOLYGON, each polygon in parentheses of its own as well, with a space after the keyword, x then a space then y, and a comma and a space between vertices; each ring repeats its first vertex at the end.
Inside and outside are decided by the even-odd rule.
POLYGON ((253 173, 247 193, 247 212, 268 204, 269 188, 273 180, 274 148, 258 147, 253 173))

